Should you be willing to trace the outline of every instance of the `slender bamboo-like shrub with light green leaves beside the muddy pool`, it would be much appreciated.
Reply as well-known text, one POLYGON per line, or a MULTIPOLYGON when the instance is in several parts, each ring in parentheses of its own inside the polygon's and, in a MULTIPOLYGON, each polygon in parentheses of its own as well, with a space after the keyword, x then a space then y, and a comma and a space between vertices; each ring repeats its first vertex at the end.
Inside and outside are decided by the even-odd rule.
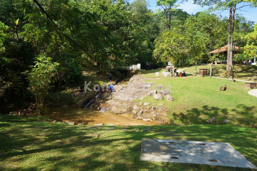
POLYGON ((28 73, 29 84, 36 98, 36 115, 43 115, 44 98, 47 94, 52 77, 56 74, 56 67, 59 63, 51 63, 51 58, 40 55, 35 65, 31 66, 32 70, 26 71, 28 73))

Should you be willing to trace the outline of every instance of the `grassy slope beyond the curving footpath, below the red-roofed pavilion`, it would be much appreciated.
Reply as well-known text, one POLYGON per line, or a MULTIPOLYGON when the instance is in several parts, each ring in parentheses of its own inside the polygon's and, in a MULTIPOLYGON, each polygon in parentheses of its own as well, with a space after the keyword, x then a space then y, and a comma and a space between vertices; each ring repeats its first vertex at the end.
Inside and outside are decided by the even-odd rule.
MULTIPOLYGON (((227 65, 213 65, 212 76, 230 78, 231 75, 225 74, 227 65)), ((210 75, 210 65, 197 66, 196 73, 199 74, 199 69, 207 68, 207 75, 210 75)), ((182 68, 180 68, 182 69, 182 68)), ((185 72, 195 73, 195 66, 188 67, 185 72)), ((234 79, 245 81, 257 81, 257 66, 255 65, 235 65, 234 66, 234 79)))

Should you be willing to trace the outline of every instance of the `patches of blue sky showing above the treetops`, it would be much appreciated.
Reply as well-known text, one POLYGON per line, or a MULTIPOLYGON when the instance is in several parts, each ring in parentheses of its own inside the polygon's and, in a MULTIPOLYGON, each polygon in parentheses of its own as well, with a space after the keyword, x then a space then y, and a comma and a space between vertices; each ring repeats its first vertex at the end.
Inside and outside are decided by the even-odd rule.
MULTIPOLYGON (((146 0, 147 1, 147 0, 146 0)), ((130 0, 130 3, 132 3, 133 0, 130 0)), ((152 9, 153 11, 155 11, 156 9, 158 9, 158 7, 156 7, 156 0, 150 0, 148 1, 150 7, 148 7, 149 9, 152 9)), ((180 9, 183 9, 183 11, 186 11, 189 14, 195 14, 197 12, 201 12, 204 10, 208 9, 208 6, 205 7, 201 7, 199 5, 193 4, 193 0, 188 0, 187 2, 185 2, 184 4, 180 5, 180 9)), ((237 5, 238 7, 242 6, 242 4, 237 5)), ((241 10, 243 11, 239 11, 237 10, 236 12, 238 14, 243 14, 243 16, 245 18, 247 18, 247 20, 251 20, 254 21, 255 23, 257 22, 257 8, 249 8, 248 6, 243 7, 241 10)), ((215 13, 219 13, 219 12, 215 12, 215 13)), ((229 15, 229 11, 225 10, 224 12, 221 13, 222 16, 227 16, 229 15)))

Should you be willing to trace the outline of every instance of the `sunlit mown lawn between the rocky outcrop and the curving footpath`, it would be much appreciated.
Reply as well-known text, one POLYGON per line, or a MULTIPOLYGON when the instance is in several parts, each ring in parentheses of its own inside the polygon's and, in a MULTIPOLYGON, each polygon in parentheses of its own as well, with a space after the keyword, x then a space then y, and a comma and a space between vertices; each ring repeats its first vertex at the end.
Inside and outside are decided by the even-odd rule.
MULTIPOLYGON (((134 102, 163 103, 170 110, 171 123, 205 124, 207 119, 215 117, 212 124, 223 124, 228 119, 231 122, 227 125, 257 127, 257 98, 248 94, 249 89, 245 89, 244 82, 192 75, 163 77, 155 76, 155 71, 143 72, 142 77, 154 82, 155 89, 159 85, 163 85, 164 89, 170 88, 174 100, 156 101, 151 96, 145 96, 143 100, 136 99, 134 102), (225 84, 227 90, 220 91, 219 87, 225 84)), ((162 71, 159 72, 161 75, 162 71)))

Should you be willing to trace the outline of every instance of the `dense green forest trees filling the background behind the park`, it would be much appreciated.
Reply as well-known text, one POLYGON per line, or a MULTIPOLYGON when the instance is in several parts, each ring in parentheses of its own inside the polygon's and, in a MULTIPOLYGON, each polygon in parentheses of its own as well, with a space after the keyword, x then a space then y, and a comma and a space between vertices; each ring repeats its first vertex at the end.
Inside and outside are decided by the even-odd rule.
POLYGON ((137 63, 145 69, 146 62, 154 68, 211 63, 224 57, 209 52, 228 44, 242 47, 235 61, 253 59, 257 25, 237 15, 242 1, 195 0, 214 7, 194 15, 179 8, 183 1, 158 0, 153 12, 145 0, 2 0, 0 102, 74 86, 91 64, 108 73, 137 63), (213 13, 225 9, 227 16, 213 13))

